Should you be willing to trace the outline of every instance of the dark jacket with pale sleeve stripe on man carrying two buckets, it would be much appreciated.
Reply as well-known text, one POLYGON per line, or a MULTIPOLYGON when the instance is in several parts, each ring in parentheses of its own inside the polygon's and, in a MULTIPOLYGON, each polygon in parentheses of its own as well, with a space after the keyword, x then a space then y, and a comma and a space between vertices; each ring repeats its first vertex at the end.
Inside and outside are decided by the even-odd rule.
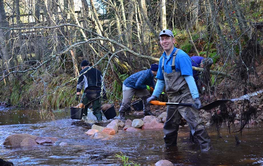
MULTIPOLYGON (((87 71, 90 67, 86 67, 85 69, 79 72, 79 75, 87 71)), ((95 68, 91 68, 89 71, 84 73, 79 77, 77 83, 77 92, 80 92, 84 86, 84 90, 101 90, 101 80, 102 75, 101 72, 95 68)))

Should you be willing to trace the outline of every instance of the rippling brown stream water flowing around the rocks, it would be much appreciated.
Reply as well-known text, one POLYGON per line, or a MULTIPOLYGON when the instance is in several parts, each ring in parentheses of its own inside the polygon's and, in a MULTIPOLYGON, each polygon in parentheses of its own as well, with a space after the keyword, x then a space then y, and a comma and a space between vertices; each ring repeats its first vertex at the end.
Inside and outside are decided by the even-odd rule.
MULTIPOLYGON (((174 165, 263 165, 263 126, 244 129, 238 135, 241 144, 236 145, 235 134, 222 129, 222 139, 217 141, 216 131, 208 129, 213 149, 201 153, 198 146, 188 143, 189 128, 179 130, 178 146, 164 146, 163 131, 143 130, 136 133, 119 131, 113 139, 102 141, 85 135, 92 124, 69 118, 69 110, 54 111, 54 120, 41 119, 39 113, 29 109, 0 108, 0 144, 10 134, 28 133, 42 137, 57 137, 69 146, 39 145, 33 147, 0 146, 0 158, 14 165, 122 165, 115 154, 123 154, 141 165, 154 165, 167 159, 174 165), (75 124, 75 125, 71 125, 75 124)), ((130 116, 131 119, 141 118, 130 116)), ((97 125, 106 126, 104 120, 97 125)))

